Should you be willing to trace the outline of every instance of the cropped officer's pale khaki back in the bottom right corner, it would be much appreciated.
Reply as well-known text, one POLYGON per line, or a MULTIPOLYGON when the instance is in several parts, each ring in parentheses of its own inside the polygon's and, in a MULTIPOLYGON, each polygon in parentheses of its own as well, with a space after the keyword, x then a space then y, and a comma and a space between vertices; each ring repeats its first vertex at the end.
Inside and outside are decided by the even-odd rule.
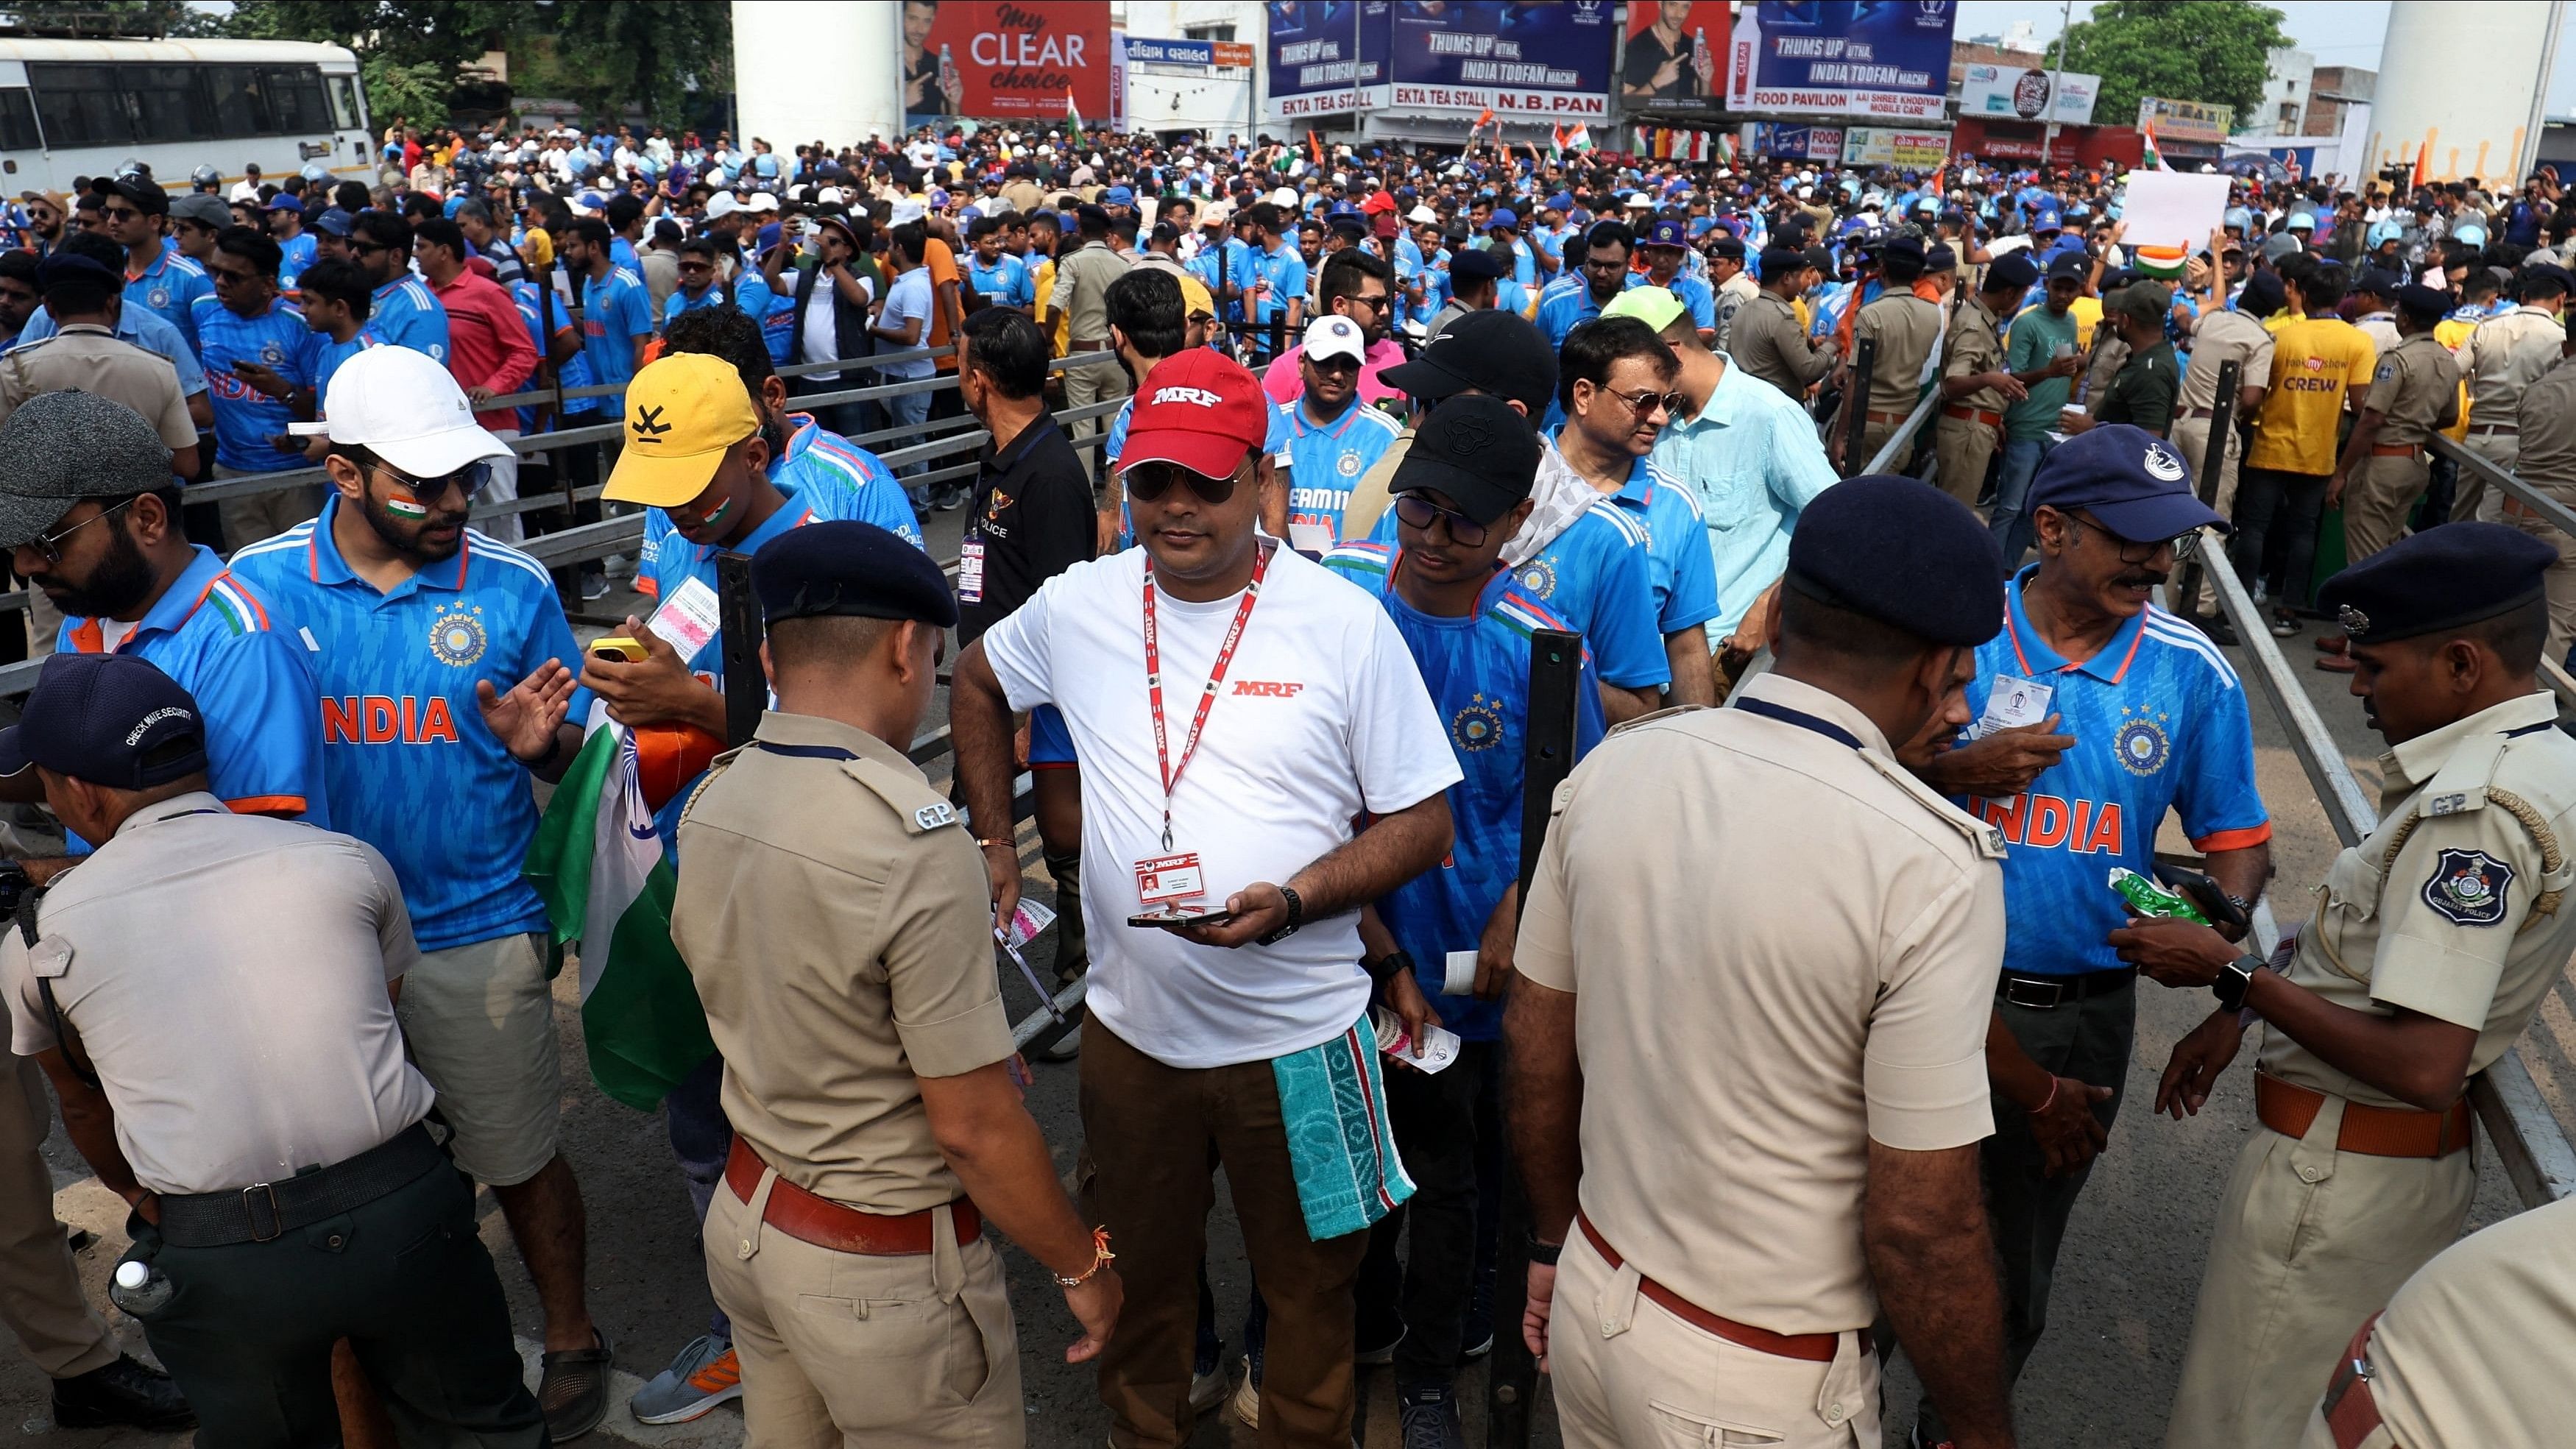
POLYGON ((2506 1217, 2424 1264, 2352 1336, 2300 1449, 2553 1444, 2576 1341, 2576 1199, 2506 1217))

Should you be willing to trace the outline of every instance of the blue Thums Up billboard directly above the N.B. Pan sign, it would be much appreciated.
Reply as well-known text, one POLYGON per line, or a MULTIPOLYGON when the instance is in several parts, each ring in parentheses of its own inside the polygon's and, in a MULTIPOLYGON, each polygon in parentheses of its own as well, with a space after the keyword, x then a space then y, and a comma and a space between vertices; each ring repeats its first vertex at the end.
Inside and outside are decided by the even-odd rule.
POLYGON ((1497 118, 1607 118, 1613 0, 1396 0, 1388 106, 1497 118))

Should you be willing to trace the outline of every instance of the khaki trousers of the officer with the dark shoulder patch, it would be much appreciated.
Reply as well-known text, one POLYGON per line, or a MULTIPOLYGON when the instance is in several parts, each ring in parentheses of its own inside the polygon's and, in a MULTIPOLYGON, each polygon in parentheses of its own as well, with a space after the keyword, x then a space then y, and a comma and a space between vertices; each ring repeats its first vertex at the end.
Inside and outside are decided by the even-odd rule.
POLYGON ((2298 1444, 2365 1318, 2460 1235, 2476 1153, 2372 1158, 2334 1148, 2344 1099, 2303 1140, 2269 1127, 2236 1156, 2166 1449, 2298 1444))

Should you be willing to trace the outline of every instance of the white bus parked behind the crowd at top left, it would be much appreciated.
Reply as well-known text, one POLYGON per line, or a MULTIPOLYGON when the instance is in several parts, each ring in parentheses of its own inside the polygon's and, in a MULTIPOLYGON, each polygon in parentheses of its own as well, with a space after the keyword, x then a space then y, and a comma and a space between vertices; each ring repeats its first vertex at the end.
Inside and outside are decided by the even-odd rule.
POLYGON ((0 193, 70 190, 129 160, 170 190, 211 165, 268 180, 322 162, 374 178, 358 57, 299 41, 52 41, 0 36, 0 193))

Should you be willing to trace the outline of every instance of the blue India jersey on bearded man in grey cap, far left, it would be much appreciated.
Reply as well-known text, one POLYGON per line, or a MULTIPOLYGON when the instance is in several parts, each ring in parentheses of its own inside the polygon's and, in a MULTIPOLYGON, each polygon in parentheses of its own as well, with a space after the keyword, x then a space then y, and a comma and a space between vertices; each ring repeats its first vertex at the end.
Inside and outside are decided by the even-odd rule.
MULTIPOLYGON (((196 695, 206 715, 209 777, 227 806, 330 826, 314 677, 270 600, 224 569, 214 548, 198 546, 196 561, 144 610, 116 654, 149 659, 196 695)), ((54 649, 106 654, 106 628, 95 618, 67 618, 54 649)), ((72 854, 90 852, 77 834, 70 842, 72 854)))

